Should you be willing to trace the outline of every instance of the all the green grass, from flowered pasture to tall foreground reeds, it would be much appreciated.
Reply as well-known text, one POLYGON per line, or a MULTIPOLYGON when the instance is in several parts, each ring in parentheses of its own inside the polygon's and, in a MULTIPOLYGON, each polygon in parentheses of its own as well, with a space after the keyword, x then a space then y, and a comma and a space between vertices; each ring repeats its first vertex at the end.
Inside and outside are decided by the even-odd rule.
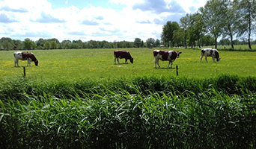
POLYGON ((176 76, 153 49, 126 50, 133 64, 113 49, 32 51, 25 77, 0 51, 0 148, 255 148, 255 52, 200 63, 179 49, 176 76))

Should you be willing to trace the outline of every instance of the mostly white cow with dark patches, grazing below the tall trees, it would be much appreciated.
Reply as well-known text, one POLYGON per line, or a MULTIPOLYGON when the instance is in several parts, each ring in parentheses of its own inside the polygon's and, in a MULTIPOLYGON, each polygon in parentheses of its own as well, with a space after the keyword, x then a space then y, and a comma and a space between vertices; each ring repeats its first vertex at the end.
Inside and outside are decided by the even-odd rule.
MULTIPOLYGON (((219 51, 214 48, 202 48, 200 62, 202 61, 203 57, 205 57, 206 61, 207 61, 207 57, 212 57, 213 62, 215 59, 217 60, 217 62, 219 62, 219 60, 221 59, 221 57, 219 57, 219 51)), ((208 63, 208 61, 207 61, 207 63, 208 63)))

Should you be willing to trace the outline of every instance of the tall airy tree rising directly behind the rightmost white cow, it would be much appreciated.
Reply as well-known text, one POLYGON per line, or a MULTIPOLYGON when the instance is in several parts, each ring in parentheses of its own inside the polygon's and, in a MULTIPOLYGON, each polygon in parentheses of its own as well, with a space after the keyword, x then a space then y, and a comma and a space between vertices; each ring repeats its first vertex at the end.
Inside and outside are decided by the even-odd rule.
POLYGON ((204 5, 204 7, 199 8, 202 16, 202 21, 205 24, 205 28, 214 37, 215 48, 217 48, 217 39, 222 34, 221 4, 222 4, 221 0, 209 0, 204 5))

